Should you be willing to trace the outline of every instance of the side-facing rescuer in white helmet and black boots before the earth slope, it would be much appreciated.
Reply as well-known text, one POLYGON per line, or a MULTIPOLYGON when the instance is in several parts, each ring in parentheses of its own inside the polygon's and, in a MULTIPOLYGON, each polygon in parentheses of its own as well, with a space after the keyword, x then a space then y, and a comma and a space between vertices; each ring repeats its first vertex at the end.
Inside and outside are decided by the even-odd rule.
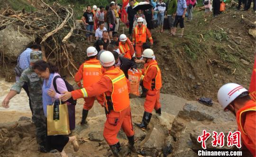
POLYGON ((141 77, 143 86, 146 88, 146 101, 144 103, 144 115, 141 124, 135 124, 141 129, 146 129, 150 122, 152 111, 155 108, 156 113, 161 116, 160 89, 162 87, 161 71, 157 66, 156 60, 153 60, 154 52, 151 49, 143 51, 142 59, 145 61, 141 77))

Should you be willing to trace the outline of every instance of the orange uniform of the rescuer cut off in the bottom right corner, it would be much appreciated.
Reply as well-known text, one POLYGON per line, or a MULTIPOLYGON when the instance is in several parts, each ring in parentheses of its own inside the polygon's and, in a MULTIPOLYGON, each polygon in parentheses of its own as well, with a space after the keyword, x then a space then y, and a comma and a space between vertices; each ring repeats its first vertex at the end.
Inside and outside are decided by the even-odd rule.
POLYGON ((243 144, 256 157, 256 102, 248 101, 236 117, 243 144))

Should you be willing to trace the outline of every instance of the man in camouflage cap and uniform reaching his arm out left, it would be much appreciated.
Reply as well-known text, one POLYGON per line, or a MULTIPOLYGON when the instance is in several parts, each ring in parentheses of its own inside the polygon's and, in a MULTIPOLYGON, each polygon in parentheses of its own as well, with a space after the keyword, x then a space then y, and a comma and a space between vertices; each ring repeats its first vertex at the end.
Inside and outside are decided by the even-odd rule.
POLYGON ((16 94, 19 94, 24 83, 28 84, 29 96, 31 99, 31 106, 33 110, 32 121, 36 125, 37 143, 39 144, 39 150, 46 152, 46 118, 43 110, 43 99, 42 99, 42 80, 32 69, 32 66, 37 60, 42 60, 41 51, 32 51, 30 53, 30 66, 25 69, 19 81, 16 82, 10 89, 8 95, 2 102, 2 106, 5 108, 9 107, 9 101, 16 94))

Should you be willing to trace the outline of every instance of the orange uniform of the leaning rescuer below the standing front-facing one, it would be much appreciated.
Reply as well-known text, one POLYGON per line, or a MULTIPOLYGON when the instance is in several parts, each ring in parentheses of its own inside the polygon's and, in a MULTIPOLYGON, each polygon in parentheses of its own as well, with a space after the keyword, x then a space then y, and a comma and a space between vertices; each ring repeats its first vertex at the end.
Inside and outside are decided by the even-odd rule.
POLYGON ((134 55, 133 45, 128 38, 125 44, 122 44, 122 41, 119 41, 119 50, 120 50, 120 53, 123 54, 124 57, 128 59, 131 59, 134 55))

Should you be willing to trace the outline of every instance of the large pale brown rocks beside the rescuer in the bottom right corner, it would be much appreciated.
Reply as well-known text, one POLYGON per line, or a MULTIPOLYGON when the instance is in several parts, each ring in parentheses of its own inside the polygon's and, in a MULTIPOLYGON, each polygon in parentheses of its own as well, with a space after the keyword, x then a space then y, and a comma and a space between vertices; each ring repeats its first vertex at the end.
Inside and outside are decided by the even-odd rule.
MULTIPOLYGON (((233 132, 237 130, 235 116, 223 112, 216 103, 208 107, 195 101, 187 102, 172 124, 170 133, 175 143, 173 153, 168 157, 197 157, 195 152, 201 148, 197 137, 203 130, 211 134, 212 131, 224 132, 225 135, 229 131, 233 132)), ((207 141, 207 147, 212 148, 211 140, 207 141)))

